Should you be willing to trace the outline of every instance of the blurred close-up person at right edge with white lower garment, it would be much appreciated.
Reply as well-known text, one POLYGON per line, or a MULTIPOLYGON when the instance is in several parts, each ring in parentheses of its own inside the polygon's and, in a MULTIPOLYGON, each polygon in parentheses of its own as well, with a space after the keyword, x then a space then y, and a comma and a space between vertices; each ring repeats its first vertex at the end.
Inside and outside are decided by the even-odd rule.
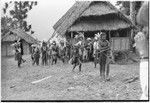
POLYGON ((143 32, 138 33, 134 39, 136 48, 139 51, 141 62, 140 62, 140 82, 142 88, 141 100, 148 100, 148 44, 149 44, 149 32, 148 32, 148 16, 149 15, 149 4, 144 2, 137 15, 137 22, 143 26, 143 32))

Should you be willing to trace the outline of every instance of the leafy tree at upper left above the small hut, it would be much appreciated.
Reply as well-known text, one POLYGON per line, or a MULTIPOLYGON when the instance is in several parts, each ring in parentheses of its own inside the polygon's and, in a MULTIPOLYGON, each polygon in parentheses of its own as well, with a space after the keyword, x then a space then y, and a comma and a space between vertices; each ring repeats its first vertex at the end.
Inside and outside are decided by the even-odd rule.
POLYGON ((10 1, 9 3, 5 3, 3 13, 6 14, 9 6, 13 6, 13 9, 9 10, 12 20, 16 21, 18 27, 24 31, 31 31, 31 33, 34 33, 34 31, 31 30, 32 26, 27 24, 26 18, 28 16, 27 13, 36 5, 37 1, 10 1))

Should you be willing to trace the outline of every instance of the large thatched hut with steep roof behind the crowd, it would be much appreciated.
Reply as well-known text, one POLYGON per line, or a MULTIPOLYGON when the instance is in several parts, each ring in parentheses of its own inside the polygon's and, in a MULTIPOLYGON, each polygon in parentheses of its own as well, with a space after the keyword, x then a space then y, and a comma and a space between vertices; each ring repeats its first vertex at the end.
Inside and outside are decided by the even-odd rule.
POLYGON ((129 50, 133 27, 130 19, 107 1, 77 1, 53 26, 71 41, 77 32, 91 38, 97 32, 106 32, 114 51, 129 50))

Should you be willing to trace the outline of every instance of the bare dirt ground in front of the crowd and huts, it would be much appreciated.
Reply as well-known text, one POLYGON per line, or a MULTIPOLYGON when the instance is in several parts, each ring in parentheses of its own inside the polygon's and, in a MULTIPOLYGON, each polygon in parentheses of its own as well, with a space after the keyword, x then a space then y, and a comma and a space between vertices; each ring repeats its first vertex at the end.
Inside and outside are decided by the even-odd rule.
POLYGON ((21 68, 14 58, 2 58, 2 100, 139 100, 141 88, 139 64, 110 65, 110 81, 99 76, 99 66, 82 65, 82 72, 72 72, 72 65, 32 66, 30 56, 21 68), (41 80, 37 83, 32 83, 41 80))

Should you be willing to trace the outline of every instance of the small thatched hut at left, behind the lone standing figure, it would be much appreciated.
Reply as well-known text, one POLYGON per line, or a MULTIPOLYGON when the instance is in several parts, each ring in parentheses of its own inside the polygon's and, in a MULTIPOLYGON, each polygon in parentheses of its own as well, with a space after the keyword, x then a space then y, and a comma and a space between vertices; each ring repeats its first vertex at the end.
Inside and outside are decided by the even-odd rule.
POLYGON ((23 54, 30 54, 31 44, 37 43, 36 39, 27 34, 21 29, 10 30, 1 39, 1 55, 2 56, 12 56, 14 55, 14 48, 11 46, 16 40, 21 39, 21 48, 23 54))

